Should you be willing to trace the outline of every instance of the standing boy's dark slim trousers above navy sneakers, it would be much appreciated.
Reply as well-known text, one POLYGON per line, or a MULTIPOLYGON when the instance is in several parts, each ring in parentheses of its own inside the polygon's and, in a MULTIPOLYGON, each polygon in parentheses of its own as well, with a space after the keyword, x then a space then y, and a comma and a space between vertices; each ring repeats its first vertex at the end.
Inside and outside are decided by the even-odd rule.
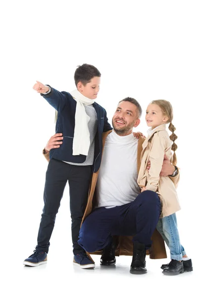
POLYGON ((71 165, 57 159, 49 161, 44 189, 44 208, 36 249, 47 253, 49 251, 49 239, 68 180, 73 253, 77 254, 83 251, 78 244, 78 236, 82 217, 87 206, 91 175, 91 165, 71 165))

